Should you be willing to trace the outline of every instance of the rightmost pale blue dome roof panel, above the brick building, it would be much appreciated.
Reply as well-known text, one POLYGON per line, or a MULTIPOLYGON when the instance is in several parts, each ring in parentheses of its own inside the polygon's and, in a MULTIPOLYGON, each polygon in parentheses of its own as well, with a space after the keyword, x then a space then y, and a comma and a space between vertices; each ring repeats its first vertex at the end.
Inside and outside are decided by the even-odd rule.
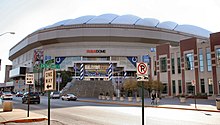
POLYGON ((193 25, 178 25, 174 30, 189 33, 189 34, 194 34, 198 36, 203 36, 203 37, 209 37, 211 33, 210 31, 206 29, 193 26, 193 25))

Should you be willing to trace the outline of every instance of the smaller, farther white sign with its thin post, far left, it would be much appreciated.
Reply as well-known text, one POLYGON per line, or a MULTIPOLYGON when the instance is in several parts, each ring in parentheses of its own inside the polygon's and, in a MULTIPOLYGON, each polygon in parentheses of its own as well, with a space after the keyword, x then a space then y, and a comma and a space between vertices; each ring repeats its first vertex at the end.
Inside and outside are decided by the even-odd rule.
POLYGON ((30 85, 34 84, 34 74, 26 73, 25 77, 25 84, 28 85, 28 112, 27 112, 27 117, 29 117, 29 111, 30 111, 30 85))

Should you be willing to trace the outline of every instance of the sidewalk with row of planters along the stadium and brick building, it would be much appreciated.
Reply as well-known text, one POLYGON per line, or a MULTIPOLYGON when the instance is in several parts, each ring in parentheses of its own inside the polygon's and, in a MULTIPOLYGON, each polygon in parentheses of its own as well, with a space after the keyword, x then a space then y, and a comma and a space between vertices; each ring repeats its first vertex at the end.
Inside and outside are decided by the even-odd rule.
MULTIPOLYGON (((124 101, 120 101, 119 98, 117 98, 116 101, 112 101, 111 99, 100 100, 98 98, 80 98, 79 101, 100 104, 116 104, 122 106, 142 106, 142 102, 136 102, 135 99, 133 99, 132 102, 129 102, 127 99, 125 99, 124 101)), ((220 112, 220 110, 217 110, 216 108, 215 100, 196 99, 196 105, 194 99, 187 99, 185 103, 180 103, 178 98, 163 98, 157 105, 151 105, 151 99, 149 98, 145 98, 144 101, 145 107, 220 112)))

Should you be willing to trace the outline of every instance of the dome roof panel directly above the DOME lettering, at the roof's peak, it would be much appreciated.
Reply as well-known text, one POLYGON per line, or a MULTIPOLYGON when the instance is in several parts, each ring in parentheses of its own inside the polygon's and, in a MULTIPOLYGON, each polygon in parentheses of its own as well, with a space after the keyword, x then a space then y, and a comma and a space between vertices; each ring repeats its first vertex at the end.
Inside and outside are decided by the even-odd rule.
POLYGON ((89 20, 86 24, 109 24, 111 23, 118 15, 116 14, 103 14, 93 19, 89 20))

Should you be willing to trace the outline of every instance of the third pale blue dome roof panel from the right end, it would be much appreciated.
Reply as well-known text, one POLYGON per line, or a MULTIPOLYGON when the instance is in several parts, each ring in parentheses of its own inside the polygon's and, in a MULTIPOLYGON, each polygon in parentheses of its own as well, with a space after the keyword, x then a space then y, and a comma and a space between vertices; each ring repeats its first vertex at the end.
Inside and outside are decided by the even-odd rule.
POLYGON ((144 18, 138 20, 135 25, 142 25, 142 26, 150 26, 150 27, 155 27, 157 24, 159 24, 159 20, 154 19, 154 18, 144 18))

